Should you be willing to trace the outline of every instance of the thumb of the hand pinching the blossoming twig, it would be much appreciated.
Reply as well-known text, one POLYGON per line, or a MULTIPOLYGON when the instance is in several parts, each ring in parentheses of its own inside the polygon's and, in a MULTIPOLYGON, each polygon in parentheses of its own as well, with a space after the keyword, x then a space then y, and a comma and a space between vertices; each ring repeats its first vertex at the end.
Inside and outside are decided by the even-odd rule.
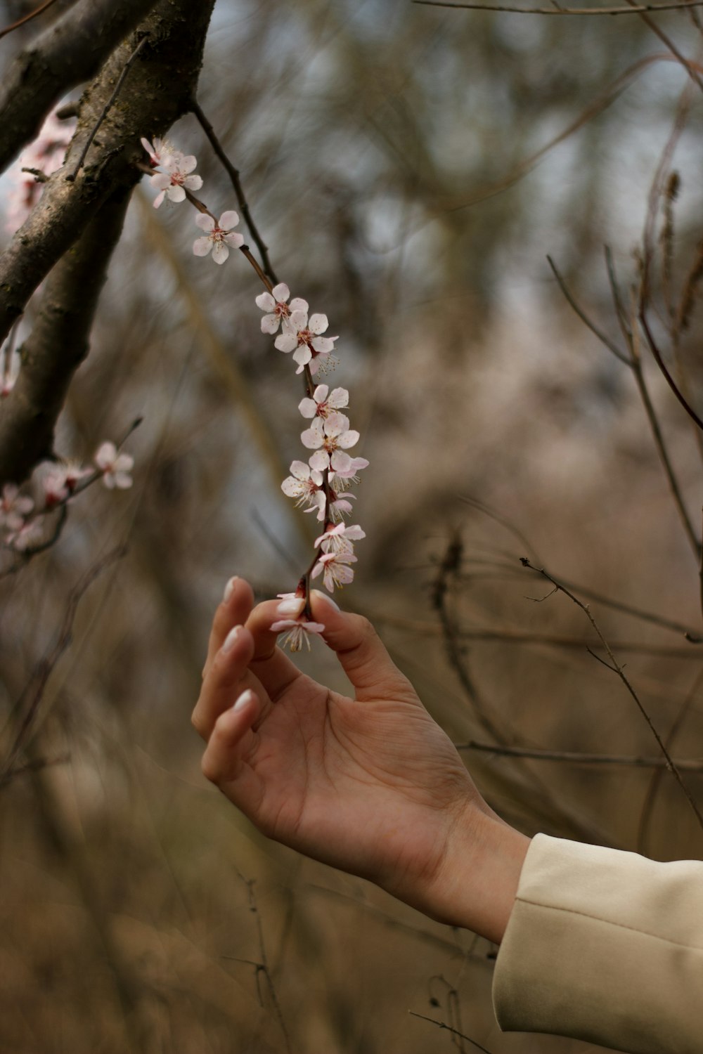
POLYGON ((368 619, 340 611, 326 593, 310 594, 313 618, 324 623, 323 640, 336 651, 359 702, 385 697, 417 699, 413 686, 392 661, 368 619))

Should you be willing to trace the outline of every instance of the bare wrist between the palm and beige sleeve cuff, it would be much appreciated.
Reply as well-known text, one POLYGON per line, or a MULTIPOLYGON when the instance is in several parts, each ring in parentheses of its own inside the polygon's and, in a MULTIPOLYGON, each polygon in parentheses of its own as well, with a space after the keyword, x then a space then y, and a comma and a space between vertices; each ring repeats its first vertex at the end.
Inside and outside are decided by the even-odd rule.
POLYGON ((467 802, 427 891, 427 914, 500 944, 529 844, 483 801, 467 802))

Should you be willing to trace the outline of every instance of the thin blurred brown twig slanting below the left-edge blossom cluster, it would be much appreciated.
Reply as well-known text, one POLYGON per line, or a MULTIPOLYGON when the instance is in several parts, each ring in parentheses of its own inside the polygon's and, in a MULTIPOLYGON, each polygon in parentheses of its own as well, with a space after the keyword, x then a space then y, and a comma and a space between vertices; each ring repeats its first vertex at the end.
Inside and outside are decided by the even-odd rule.
POLYGON ((104 571, 106 567, 110 567, 111 564, 114 564, 115 561, 121 560, 125 552, 126 548, 122 545, 113 549, 106 557, 99 560, 97 564, 95 564, 83 575, 78 585, 76 585, 69 593, 69 601, 66 603, 63 621, 61 623, 61 628, 59 629, 56 642, 45 653, 44 658, 39 662, 37 669, 30 678, 30 681, 25 685, 20 698, 15 704, 15 711, 20 713, 23 709, 24 717, 22 718, 20 726, 13 739, 13 743, 7 750, 5 761, 0 767, 0 786, 5 781, 7 774, 12 773, 16 768, 18 758, 24 750, 27 740, 32 735, 48 679, 61 656, 71 646, 73 641, 73 624, 81 599, 102 571, 104 571))

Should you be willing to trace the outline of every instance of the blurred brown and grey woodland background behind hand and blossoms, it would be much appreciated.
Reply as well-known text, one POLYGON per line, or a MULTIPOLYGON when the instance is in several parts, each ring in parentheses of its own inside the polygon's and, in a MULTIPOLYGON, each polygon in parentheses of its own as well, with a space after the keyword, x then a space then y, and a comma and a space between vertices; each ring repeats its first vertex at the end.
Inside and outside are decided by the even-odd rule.
MULTIPOLYGON (((0 4, 3 24, 32 6, 0 4)), ((632 326, 644 260, 653 337, 700 412, 703 98, 670 50, 696 60, 700 34, 695 9, 652 21, 665 40, 637 15, 218 0, 199 102, 278 278, 339 334, 320 379, 350 390, 371 463, 341 603, 374 620, 503 816, 665 860, 700 856, 696 818, 669 774, 630 763, 657 744, 587 650, 606 658, 586 613, 520 563, 590 603, 672 755, 703 759, 685 637, 701 436, 632 326), (636 371, 547 255, 614 348, 641 352, 678 506, 636 371)), ((213 212, 236 208, 195 118, 170 138, 213 212)), ((294 588, 316 525, 279 489, 302 392, 259 331, 255 274, 194 257, 192 212, 152 198, 144 181, 57 441, 89 461, 143 417, 134 487, 91 488, 0 580, 3 752, 35 707, 0 787, 0 1050, 473 1049, 409 1012, 493 1054, 584 1049, 501 1035, 494 948, 268 842, 201 777, 190 714, 224 584, 294 588)), ((344 689, 317 644, 301 665, 344 689)), ((701 772, 683 775, 700 801, 701 772)))

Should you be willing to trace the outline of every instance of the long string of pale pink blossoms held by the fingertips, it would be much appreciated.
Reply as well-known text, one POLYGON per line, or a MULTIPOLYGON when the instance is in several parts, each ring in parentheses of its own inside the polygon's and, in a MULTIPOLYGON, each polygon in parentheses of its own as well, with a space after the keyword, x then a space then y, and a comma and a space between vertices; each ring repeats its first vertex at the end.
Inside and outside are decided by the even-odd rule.
MULTIPOLYGON (((196 256, 207 256, 212 251, 216 264, 223 264, 230 249, 238 249, 243 238, 233 229, 239 222, 236 212, 223 212, 219 219, 194 196, 202 180, 194 175, 195 157, 185 156, 160 139, 141 144, 149 154, 152 169, 152 187, 158 191, 154 207, 159 208, 168 198, 178 203, 190 200, 197 209, 196 225, 204 232, 193 245, 196 256)), ((251 257, 250 257, 251 259, 251 257)), ((257 273, 262 276, 257 268, 257 273)), ((336 336, 326 336, 329 328, 327 315, 310 314, 307 300, 293 297, 288 286, 279 282, 270 286, 263 278, 267 291, 256 297, 256 305, 263 311, 261 332, 274 337, 278 351, 292 355, 295 372, 302 374, 306 396, 298 405, 304 418, 310 422, 300 440, 311 453, 308 461, 294 461, 291 475, 284 480, 281 489, 297 505, 306 506, 323 525, 315 541, 315 554, 293 593, 279 593, 278 620, 272 624, 275 632, 288 631, 285 643, 291 650, 298 650, 305 641, 310 646, 310 635, 320 633, 325 626, 313 622, 310 611, 310 582, 321 577, 325 587, 333 592, 335 587, 347 585, 354 578, 352 564, 356 563, 354 542, 365 536, 357 524, 345 523, 352 512, 350 487, 358 483, 358 472, 369 464, 364 457, 354 457, 348 451, 358 443, 359 433, 350 428, 349 417, 343 410, 349 406, 349 392, 318 384, 313 378, 329 362, 335 350, 336 336)))

